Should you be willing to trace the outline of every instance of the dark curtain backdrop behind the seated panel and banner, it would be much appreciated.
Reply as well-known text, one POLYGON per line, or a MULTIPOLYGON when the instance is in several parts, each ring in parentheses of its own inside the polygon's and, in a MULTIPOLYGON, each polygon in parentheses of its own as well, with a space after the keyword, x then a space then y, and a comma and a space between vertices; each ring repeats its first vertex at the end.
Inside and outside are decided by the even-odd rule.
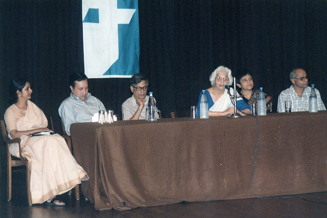
MULTIPOLYGON (((302 67, 327 103, 327 4, 322 0, 138 0, 140 73, 162 110, 196 105, 219 65, 249 70, 273 97, 302 67)), ((0 117, 12 79, 25 76, 33 98, 60 131, 58 108, 69 74, 83 72, 81 0, 0 0, 0 117)), ((90 79, 90 93, 121 116, 129 79, 90 79)), ((5 155, 1 149, 2 157, 5 155)), ((1 160, 3 160, 1 158, 1 160)), ((0 164, 4 170, 5 163, 0 164)))

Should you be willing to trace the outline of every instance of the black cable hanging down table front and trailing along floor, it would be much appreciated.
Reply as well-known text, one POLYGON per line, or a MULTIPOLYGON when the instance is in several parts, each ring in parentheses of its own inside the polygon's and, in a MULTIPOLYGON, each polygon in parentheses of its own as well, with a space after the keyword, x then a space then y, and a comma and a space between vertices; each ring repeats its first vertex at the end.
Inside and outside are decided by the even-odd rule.
POLYGON ((295 199, 301 199, 301 200, 305 200, 305 201, 310 201, 313 203, 319 203, 319 204, 326 204, 327 202, 325 201, 316 201, 316 200, 310 200, 310 199, 306 199, 300 196, 271 196, 271 197, 259 197, 256 194, 253 193, 252 191, 252 181, 253 181, 253 177, 254 177, 254 173, 255 173, 255 169, 256 169, 256 163, 257 163, 257 152, 258 152, 258 140, 259 140, 259 122, 258 122, 258 117, 256 117, 253 114, 249 114, 250 116, 253 116, 254 118, 256 118, 256 122, 257 122, 257 140, 256 140, 256 150, 255 150, 255 157, 254 157, 254 164, 253 164, 253 171, 252 171, 252 177, 251 177, 251 182, 250 182, 250 191, 251 194, 255 197, 255 198, 259 198, 259 199, 272 199, 272 198, 295 198, 295 199))

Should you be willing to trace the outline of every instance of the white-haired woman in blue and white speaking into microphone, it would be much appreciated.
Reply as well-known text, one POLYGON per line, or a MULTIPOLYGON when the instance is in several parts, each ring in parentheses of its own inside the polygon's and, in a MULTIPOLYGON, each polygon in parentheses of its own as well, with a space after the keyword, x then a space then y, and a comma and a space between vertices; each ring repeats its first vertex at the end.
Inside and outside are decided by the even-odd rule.
MULTIPOLYGON (((211 86, 205 90, 205 95, 208 100, 209 116, 226 116, 234 113, 234 106, 229 98, 225 84, 231 85, 233 78, 229 68, 219 66, 210 76, 211 86)), ((234 95, 234 90, 230 88, 230 94, 234 95)), ((236 95, 238 93, 236 92, 236 95)), ((200 99, 197 103, 197 115, 200 116, 200 99)), ((250 106, 244 102, 242 98, 237 98, 236 107, 244 113, 251 113, 250 106)), ((239 111, 238 111, 239 112, 239 111)))

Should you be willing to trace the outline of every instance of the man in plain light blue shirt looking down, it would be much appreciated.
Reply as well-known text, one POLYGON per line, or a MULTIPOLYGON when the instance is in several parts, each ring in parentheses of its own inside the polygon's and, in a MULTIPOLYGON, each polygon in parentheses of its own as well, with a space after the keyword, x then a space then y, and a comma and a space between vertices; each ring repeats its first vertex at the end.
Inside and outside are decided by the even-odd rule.
POLYGON ((89 93, 88 78, 85 74, 72 74, 69 83, 70 96, 58 109, 68 136, 72 123, 92 122, 92 117, 98 110, 105 110, 102 102, 89 93))

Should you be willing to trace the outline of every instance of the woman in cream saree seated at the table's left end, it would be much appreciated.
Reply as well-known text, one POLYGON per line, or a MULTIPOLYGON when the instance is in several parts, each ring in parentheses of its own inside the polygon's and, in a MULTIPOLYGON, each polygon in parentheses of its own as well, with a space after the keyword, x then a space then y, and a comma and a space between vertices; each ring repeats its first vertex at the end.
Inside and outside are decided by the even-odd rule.
MULTIPOLYGON (((21 79, 13 82, 17 101, 6 109, 4 121, 8 136, 21 138, 23 156, 29 161, 32 202, 37 204, 47 201, 48 204, 64 206, 64 202, 55 200, 54 197, 87 181, 89 177, 76 163, 63 137, 58 134, 30 136, 49 131, 48 121, 43 111, 29 100, 32 94, 30 82, 21 79)), ((19 157, 17 143, 10 145, 9 151, 19 157)))

